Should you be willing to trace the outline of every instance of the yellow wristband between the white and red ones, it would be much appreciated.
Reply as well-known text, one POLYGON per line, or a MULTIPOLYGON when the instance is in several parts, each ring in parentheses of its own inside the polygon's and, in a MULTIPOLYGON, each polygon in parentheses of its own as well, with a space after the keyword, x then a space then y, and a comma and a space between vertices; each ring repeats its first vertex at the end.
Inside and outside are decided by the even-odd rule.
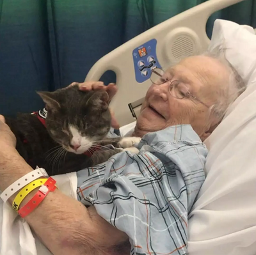
POLYGON ((13 210, 15 210, 16 212, 18 212, 19 210, 19 206, 21 204, 21 202, 23 201, 23 199, 28 196, 28 194, 33 191, 34 189, 44 185, 44 183, 47 181, 47 178, 40 178, 37 179, 31 183, 29 183, 28 185, 26 185, 22 190, 20 190, 20 192, 17 194, 17 196, 15 197, 15 199, 13 200, 12 203, 12 208, 13 210))

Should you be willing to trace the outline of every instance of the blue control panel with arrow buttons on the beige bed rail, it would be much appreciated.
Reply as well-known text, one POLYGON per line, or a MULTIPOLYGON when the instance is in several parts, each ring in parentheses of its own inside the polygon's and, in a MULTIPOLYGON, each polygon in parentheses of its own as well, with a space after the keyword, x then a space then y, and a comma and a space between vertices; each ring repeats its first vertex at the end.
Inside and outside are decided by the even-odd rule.
POLYGON ((152 39, 132 51, 135 78, 137 82, 145 82, 150 78, 152 68, 161 68, 156 56, 157 40, 152 39))

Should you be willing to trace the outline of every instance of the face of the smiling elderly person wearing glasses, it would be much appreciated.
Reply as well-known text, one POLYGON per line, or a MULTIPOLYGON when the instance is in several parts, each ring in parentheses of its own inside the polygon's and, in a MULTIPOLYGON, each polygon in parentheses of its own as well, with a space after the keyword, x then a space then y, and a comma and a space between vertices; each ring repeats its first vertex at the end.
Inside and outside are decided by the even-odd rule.
MULTIPOLYGON (((189 93, 209 107, 216 102, 220 86, 228 82, 229 77, 223 64, 206 56, 186 58, 164 75, 170 81, 185 84, 189 93)), ((135 134, 142 136, 172 125, 190 124, 204 140, 209 136, 211 126, 216 125, 213 120, 209 121, 209 107, 204 104, 191 97, 173 97, 170 82, 152 84, 141 107, 135 134)))

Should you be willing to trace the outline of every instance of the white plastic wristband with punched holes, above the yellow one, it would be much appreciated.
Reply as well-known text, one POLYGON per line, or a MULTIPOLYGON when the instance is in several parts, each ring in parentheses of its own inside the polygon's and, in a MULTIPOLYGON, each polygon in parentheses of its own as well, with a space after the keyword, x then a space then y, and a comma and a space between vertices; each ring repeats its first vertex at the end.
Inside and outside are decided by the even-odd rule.
POLYGON ((16 182, 12 183, 12 185, 10 185, 7 189, 5 189, 0 196, 1 199, 3 199, 4 203, 6 203, 6 201, 17 191, 42 176, 48 177, 48 174, 46 173, 44 168, 37 168, 31 171, 25 176, 19 178, 19 180, 17 180, 16 182))

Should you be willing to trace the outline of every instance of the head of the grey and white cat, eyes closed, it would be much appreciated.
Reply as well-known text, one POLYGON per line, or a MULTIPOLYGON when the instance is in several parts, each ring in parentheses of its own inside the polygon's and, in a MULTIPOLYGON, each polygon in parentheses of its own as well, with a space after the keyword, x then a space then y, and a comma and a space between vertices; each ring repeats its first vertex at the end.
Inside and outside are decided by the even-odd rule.
POLYGON ((79 91, 78 86, 70 86, 37 93, 46 104, 47 131, 65 150, 84 153, 108 134, 111 115, 105 91, 79 91))

